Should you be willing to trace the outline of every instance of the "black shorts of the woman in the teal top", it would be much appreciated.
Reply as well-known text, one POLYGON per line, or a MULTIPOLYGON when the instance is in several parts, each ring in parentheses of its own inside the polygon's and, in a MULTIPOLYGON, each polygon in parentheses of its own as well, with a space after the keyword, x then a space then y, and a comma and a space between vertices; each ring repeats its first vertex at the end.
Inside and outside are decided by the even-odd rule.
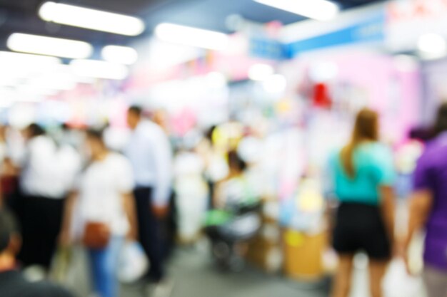
POLYGON ((338 254, 364 251, 373 260, 390 259, 391 241, 381 209, 367 204, 343 202, 337 211, 333 247, 338 254))

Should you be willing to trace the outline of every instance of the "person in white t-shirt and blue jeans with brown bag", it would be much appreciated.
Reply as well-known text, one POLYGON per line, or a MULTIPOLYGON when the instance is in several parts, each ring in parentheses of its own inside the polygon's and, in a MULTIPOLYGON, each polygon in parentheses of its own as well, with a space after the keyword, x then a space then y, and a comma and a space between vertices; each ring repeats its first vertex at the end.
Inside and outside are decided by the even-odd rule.
POLYGON ((60 241, 63 246, 81 241, 89 252, 95 293, 100 297, 118 297, 121 246, 125 238, 136 240, 136 213, 131 194, 134 178, 129 161, 109 151, 102 132, 89 130, 86 142, 91 161, 66 204, 60 241), (92 224, 101 228, 93 234, 104 236, 101 246, 93 246, 86 239, 91 236, 87 233, 92 224))

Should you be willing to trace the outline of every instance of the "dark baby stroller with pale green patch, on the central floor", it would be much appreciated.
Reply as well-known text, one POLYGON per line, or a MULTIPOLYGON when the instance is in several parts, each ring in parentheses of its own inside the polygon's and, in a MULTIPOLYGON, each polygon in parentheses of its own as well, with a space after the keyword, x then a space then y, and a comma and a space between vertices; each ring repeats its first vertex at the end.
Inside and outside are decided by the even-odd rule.
POLYGON ((232 205, 209 212, 205 233, 211 240, 211 254, 219 268, 241 271, 245 266, 243 244, 261 229, 261 204, 232 205))

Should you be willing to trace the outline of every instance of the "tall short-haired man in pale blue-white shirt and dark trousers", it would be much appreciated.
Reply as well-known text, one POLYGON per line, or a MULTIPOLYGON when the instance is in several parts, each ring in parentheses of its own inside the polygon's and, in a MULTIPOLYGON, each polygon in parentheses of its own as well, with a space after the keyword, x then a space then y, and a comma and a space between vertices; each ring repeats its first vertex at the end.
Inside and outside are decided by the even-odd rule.
POLYGON ((169 211, 172 152, 164 130, 142 119, 141 108, 131 107, 127 116, 132 133, 125 155, 136 181, 134 196, 139 221, 139 240, 151 262, 149 277, 164 280, 161 221, 169 211))

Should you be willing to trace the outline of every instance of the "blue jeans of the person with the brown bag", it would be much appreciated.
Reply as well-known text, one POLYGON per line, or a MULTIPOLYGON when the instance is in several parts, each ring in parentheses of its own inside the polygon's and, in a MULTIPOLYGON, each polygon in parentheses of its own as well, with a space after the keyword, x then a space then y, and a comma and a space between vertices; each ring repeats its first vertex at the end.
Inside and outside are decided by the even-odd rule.
POLYGON ((119 296, 116 271, 123 242, 121 236, 114 236, 105 249, 89 249, 94 290, 100 297, 119 296))

